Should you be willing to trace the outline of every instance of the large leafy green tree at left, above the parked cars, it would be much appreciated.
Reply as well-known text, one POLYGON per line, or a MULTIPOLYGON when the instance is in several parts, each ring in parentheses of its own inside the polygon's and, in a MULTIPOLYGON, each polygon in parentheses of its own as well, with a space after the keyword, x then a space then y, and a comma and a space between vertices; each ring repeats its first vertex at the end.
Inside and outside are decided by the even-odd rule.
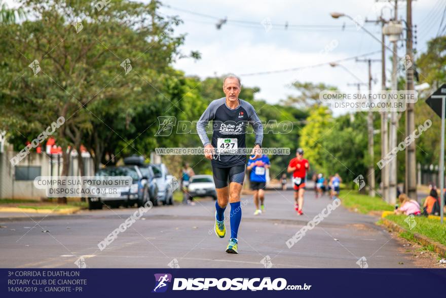
POLYGON ((179 58, 184 39, 173 36, 180 21, 157 15, 158 6, 120 0, 98 11, 88 1, 23 0, 33 20, 3 24, 0 33, 5 41, 0 104, 10 112, 1 120, 10 139, 33 139, 35 131, 65 117, 57 131, 63 173, 68 173, 66 149, 81 143, 96 165, 104 162, 103 153, 114 156, 122 148, 150 151, 154 142, 145 140, 138 150, 131 140, 143 130, 139 126, 175 109, 165 85, 180 75, 169 65, 179 58), (28 68, 34 60, 41 70, 35 75, 28 68), (129 72, 122 67, 126 61, 133 68, 129 72))

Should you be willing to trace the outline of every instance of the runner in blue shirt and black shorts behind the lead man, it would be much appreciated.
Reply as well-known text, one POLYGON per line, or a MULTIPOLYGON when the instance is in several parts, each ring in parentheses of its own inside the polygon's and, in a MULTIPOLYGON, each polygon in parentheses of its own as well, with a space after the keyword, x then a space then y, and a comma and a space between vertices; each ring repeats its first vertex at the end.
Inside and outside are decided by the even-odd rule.
POLYGON ((249 175, 249 181, 251 183, 251 190, 254 190, 254 215, 259 215, 262 214, 262 212, 265 212, 264 189, 265 184, 267 183, 266 169, 270 167, 270 164, 270 159, 267 155, 262 155, 259 158, 248 160, 247 169, 251 171, 251 174, 249 175), (258 201, 260 201, 260 209, 258 208, 258 201))

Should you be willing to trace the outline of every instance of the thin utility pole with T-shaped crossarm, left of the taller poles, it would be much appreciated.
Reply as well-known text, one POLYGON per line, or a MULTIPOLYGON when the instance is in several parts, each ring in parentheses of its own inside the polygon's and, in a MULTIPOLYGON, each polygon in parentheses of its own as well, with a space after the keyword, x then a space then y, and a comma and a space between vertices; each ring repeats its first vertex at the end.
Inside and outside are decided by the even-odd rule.
MULTIPOLYGON (((368 92, 371 92, 371 62, 381 61, 380 59, 356 59, 356 62, 367 62, 368 64, 368 92)), ((367 114, 367 147, 369 162, 367 168, 367 181, 369 185, 369 196, 375 196, 375 155, 373 152, 373 112, 369 111, 367 114)))

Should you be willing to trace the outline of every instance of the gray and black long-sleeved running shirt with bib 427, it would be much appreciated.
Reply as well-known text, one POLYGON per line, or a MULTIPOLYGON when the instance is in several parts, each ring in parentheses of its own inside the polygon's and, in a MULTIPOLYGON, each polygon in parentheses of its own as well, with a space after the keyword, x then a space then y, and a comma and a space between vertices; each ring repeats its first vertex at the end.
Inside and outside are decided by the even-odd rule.
MULTIPOLYGON (((263 125, 252 105, 239 99, 239 106, 231 109, 226 105, 226 97, 212 101, 201 115, 197 123, 197 133, 203 146, 212 144, 218 148, 245 148, 245 134, 248 124, 254 128, 255 143, 262 146, 263 125), (212 120, 212 141, 209 141, 206 130, 212 120)), ((218 150, 217 150, 218 152, 218 150)), ((230 168, 234 165, 246 164, 245 154, 214 154, 212 166, 217 168, 230 168)))

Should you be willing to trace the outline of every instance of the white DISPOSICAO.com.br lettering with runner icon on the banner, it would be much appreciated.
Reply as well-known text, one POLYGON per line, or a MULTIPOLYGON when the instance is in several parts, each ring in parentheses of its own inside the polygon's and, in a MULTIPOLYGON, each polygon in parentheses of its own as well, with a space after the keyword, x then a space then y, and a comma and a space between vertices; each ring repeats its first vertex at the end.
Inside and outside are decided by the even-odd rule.
POLYGON ((175 278, 169 273, 155 274, 155 287, 153 293, 163 293, 170 288, 172 290, 209 290, 215 287, 218 290, 309 290, 311 285, 288 285, 284 278, 276 278, 272 280, 270 277, 264 278, 175 278), (173 281, 173 283, 172 283, 173 281))

